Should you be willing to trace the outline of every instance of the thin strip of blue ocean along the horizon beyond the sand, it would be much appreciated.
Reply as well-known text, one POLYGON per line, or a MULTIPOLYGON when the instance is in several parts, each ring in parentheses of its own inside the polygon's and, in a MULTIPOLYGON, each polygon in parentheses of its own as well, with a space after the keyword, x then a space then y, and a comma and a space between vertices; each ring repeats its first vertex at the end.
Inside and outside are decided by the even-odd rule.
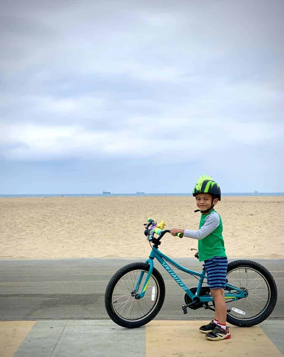
MULTIPOLYGON (((132 196, 191 196, 192 193, 36 193, 30 195, 0 195, 7 197, 132 197, 132 196)), ((284 192, 222 192, 222 196, 284 196, 284 192)))

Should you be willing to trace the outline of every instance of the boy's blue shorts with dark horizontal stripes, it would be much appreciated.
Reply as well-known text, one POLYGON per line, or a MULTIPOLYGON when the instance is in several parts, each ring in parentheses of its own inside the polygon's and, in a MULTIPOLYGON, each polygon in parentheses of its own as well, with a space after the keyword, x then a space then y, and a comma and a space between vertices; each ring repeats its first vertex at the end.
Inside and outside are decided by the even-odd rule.
POLYGON ((212 257, 204 261, 207 274, 207 285, 212 289, 224 289, 228 266, 227 257, 212 257))

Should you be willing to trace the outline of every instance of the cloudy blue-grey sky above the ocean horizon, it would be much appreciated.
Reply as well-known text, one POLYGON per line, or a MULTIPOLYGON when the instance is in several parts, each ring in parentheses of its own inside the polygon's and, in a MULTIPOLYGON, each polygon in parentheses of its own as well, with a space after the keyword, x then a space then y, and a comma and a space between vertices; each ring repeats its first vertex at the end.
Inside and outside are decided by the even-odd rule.
POLYGON ((2 0, 0 194, 284 192, 283 0, 2 0))

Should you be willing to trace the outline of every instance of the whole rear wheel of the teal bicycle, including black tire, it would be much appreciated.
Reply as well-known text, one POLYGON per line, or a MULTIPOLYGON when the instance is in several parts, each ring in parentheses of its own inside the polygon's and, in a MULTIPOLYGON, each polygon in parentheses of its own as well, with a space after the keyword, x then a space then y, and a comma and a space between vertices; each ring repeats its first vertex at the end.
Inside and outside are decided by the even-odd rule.
MULTIPOLYGON (((277 287, 273 276, 262 265, 251 260, 236 260, 228 264, 230 285, 247 291, 248 296, 227 302, 227 322, 250 327, 264 321, 277 301, 277 287)), ((225 292, 227 292, 225 290, 225 292)))

